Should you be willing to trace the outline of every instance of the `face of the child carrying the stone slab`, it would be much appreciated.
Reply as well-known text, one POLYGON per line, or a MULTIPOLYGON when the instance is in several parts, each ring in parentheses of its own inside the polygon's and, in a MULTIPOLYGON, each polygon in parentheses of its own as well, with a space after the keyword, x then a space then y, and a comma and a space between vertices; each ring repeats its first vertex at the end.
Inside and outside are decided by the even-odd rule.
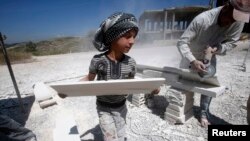
POLYGON ((121 52, 121 53, 128 53, 129 50, 132 48, 133 44, 135 43, 136 31, 129 30, 119 39, 114 40, 111 43, 111 50, 121 52))

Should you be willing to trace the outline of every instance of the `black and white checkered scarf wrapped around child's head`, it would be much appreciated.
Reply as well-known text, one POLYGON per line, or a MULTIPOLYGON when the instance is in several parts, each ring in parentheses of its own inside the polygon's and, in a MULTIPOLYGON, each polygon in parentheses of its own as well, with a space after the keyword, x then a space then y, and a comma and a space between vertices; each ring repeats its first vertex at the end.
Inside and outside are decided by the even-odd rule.
POLYGON ((120 38, 131 29, 136 32, 139 30, 134 15, 122 12, 114 13, 101 23, 93 44, 98 51, 106 51, 110 48, 112 41, 120 38))

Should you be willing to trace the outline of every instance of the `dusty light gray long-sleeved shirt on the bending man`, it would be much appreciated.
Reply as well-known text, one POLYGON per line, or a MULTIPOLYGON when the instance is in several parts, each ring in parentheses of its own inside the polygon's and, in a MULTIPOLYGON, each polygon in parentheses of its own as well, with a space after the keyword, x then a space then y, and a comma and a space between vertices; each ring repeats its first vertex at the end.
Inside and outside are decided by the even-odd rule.
POLYGON ((206 46, 217 47, 220 54, 236 47, 244 23, 234 22, 230 26, 220 27, 218 16, 222 7, 205 11, 194 18, 177 43, 182 57, 192 62, 203 59, 206 46))

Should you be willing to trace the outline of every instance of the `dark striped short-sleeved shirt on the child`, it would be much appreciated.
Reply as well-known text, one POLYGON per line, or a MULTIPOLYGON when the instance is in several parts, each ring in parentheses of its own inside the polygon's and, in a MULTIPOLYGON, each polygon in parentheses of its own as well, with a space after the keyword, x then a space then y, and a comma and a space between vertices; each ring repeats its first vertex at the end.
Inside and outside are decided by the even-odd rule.
MULTIPOLYGON (((124 54, 123 58, 118 61, 112 61, 107 53, 95 55, 90 63, 89 73, 96 74, 97 80, 114 80, 114 79, 131 79, 136 73, 136 62, 133 58, 124 54)), ((104 95, 97 96, 98 101, 108 103, 119 103, 125 100, 124 95, 104 95)))

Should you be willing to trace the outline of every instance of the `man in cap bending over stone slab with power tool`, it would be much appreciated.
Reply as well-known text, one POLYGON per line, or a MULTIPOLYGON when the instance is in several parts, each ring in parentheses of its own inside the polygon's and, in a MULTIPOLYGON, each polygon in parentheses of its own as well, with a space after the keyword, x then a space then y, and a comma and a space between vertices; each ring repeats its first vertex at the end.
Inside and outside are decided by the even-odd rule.
MULTIPOLYGON (((181 68, 191 68, 196 72, 206 72, 201 61, 204 53, 213 53, 211 65, 216 67, 216 54, 225 55, 236 47, 244 23, 249 22, 250 0, 230 0, 224 6, 205 11, 194 18, 177 43, 182 60, 181 68)), ((207 127, 209 105, 212 98, 201 95, 200 122, 207 127)))

